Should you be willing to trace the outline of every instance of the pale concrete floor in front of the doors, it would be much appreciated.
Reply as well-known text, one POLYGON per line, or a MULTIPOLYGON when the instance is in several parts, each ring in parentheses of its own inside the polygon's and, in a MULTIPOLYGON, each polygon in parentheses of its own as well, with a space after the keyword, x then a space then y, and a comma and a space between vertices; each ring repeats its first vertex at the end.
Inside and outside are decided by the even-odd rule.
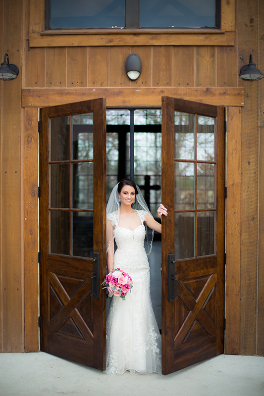
POLYGON ((220 355, 167 376, 108 376, 48 353, 0 353, 1 396, 264 396, 264 357, 220 355))

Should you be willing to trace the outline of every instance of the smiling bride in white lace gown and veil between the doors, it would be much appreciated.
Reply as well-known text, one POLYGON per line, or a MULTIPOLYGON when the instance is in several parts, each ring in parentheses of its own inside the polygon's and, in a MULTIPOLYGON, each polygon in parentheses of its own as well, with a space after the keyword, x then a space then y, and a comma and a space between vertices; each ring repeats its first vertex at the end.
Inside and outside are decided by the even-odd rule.
MULTIPOLYGON (((158 217, 162 214, 167 215, 167 209, 160 204, 158 217)), ((132 278, 133 289, 125 300, 111 298, 106 322, 105 372, 161 373, 161 337, 150 297, 147 258, 154 230, 161 233, 161 224, 153 218, 138 186, 130 179, 122 179, 113 188, 106 217, 108 272, 115 268, 126 271, 132 278), (153 230, 150 240, 147 226, 153 230)))

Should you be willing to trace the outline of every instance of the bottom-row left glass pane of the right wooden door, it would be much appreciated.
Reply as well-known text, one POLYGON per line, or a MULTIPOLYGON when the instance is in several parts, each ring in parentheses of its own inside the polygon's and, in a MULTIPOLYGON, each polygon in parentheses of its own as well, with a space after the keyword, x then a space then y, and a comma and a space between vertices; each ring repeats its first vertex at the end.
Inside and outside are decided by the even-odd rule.
POLYGON ((194 213, 175 213, 174 224, 175 259, 194 257, 194 213))

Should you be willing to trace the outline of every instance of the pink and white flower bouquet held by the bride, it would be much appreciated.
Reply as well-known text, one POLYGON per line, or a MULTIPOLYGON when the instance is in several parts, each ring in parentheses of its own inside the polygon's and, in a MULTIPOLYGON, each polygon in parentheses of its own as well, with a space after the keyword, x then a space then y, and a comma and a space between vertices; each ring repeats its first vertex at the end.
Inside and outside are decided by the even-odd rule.
POLYGON ((120 268, 112 269, 106 279, 102 283, 105 286, 103 289, 108 290, 109 295, 107 298, 112 296, 121 297, 122 300, 125 299, 126 294, 133 287, 133 282, 131 276, 129 276, 125 271, 120 268))

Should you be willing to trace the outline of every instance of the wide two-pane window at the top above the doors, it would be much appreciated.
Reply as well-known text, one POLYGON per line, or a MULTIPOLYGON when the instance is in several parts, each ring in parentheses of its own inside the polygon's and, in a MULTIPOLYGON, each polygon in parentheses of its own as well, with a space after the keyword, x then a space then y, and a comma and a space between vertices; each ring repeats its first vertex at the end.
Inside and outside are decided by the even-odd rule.
POLYGON ((46 29, 219 28, 220 0, 46 0, 46 29))

